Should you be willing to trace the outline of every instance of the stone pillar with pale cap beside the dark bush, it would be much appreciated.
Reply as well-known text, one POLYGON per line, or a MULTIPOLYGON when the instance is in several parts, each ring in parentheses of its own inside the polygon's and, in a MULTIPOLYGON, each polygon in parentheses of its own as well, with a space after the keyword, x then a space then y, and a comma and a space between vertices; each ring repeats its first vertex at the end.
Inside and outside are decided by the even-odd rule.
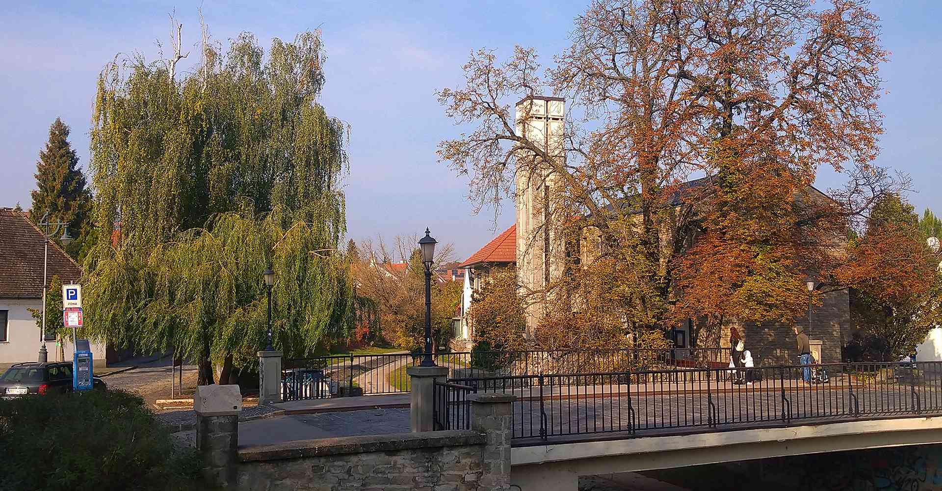
POLYGON ((235 485, 238 466, 238 385, 199 385, 193 396, 196 450, 203 457, 203 478, 222 487, 235 485))

